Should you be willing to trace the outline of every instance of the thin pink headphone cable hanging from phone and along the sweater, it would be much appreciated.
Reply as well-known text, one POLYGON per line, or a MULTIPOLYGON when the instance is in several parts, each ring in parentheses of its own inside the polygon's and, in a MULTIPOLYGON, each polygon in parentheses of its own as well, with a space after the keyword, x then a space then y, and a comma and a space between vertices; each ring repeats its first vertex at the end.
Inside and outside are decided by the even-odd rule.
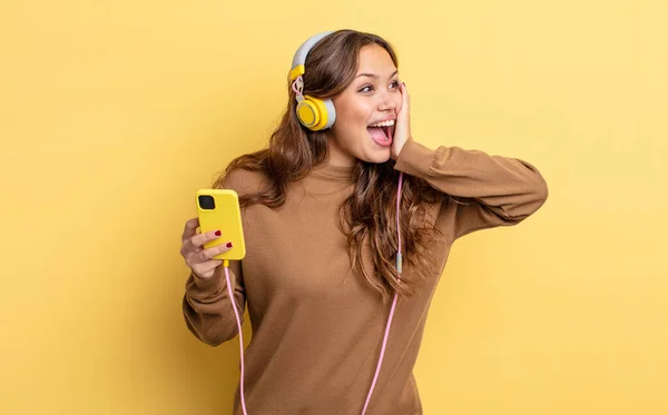
MULTIPOLYGON (((403 184, 403 171, 399 172, 399 187, 396 189, 396 234, 397 234, 397 247, 396 247, 396 270, 401 275, 402 270, 402 256, 401 256, 401 228, 399 223, 399 209, 401 202, 401 188, 403 184)), ((240 352, 240 370, 242 370, 242 379, 239 382, 240 389, 240 398, 242 398, 242 409, 244 411, 244 415, 248 415, 246 411, 246 397, 244 395, 244 336, 242 334, 242 318, 239 316, 239 312, 237 309, 236 302, 234 300, 234 293, 232 292, 232 283, 229 280, 229 267, 228 261, 224 261, 225 266, 225 278, 227 280, 227 294, 229 295, 229 299, 232 302, 232 308, 234 308, 234 315, 237 320, 237 327, 239 330, 239 352, 240 352)), ((401 283, 401 278, 399 278, 401 283)), ((381 366, 383 364, 383 357, 385 356, 385 347, 387 346, 387 338, 390 337, 390 326, 392 325, 392 317, 394 316, 394 309, 396 308, 396 300, 399 296, 394 294, 394 299, 392 302, 392 308, 390 309, 390 316, 387 317, 387 326, 385 327, 385 336, 383 337, 383 346, 381 347, 381 356, 379 357, 379 364, 376 366, 376 372, 373 377, 373 382, 371 383, 371 388, 369 389, 369 395, 366 396, 366 402, 364 403, 364 408, 362 409, 362 415, 366 413, 366 408, 369 407, 369 403, 371 402, 371 395, 373 394, 373 389, 375 387, 376 381, 379 379, 379 375, 381 373, 381 366)))

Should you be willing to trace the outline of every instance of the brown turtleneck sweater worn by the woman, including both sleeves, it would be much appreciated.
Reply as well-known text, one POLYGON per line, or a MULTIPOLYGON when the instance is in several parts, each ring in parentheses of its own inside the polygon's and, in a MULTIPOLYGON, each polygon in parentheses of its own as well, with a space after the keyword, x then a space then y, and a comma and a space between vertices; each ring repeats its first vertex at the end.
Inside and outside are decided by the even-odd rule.
MULTIPOLYGON (((413 366, 452 243, 478 229, 515 225, 548 197, 530 164, 459 147, 432 150, 410 140, 395 169, 468 202, 444 198, 432 207, 434 226, 445 236, 433 247, 439 268, 418 295, 397 303, 367 415, 422 414, 413 366)), ((351 175, 351 168, 318 168, 291 187, 283 207, 256 205, 242 213, 247 254, 229 269, 236 304, 248 308, 253 328, 245 352, 248 415, 362 412, 390 306, 351 270, 337 225, 340 206, 353 190, 351 175)), ((236 170, 225 187, 243 195, 261 180, 259 174, 236 170)), ((209 279, 190 275, 186 283, 186 324, 212 346, 238 332, 226 285, 222 267, 209 279)), ((234 414, 242 414, 238 387, 234 414)))

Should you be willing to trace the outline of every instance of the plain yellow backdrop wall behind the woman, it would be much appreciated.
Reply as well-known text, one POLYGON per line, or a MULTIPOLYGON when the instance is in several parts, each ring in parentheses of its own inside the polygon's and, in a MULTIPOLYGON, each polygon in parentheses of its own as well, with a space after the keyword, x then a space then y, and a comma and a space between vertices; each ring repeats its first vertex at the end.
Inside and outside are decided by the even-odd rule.
POLYGON ((229 413, 237 339, 187 332, 181 228, 337 28, 396 47, 416 140, 550 186, 454 246, 425 414, 668 413, 667 21, 661 0, 3 2, 0 413, 229 413))

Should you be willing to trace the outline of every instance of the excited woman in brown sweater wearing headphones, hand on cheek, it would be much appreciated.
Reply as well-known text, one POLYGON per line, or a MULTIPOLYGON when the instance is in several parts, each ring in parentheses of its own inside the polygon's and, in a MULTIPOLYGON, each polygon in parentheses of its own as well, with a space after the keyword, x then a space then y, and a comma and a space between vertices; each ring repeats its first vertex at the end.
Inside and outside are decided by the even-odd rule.
POLYGON ((229 286, 210 259, 228 248, 202 249, 225 229, 186 224, 187 326, 219 345, 239 330, 230 293, 239 314, 247 304, 234 414, 422 414, 412 372, 452 244, 522 221, 547 185, 522 160, 415 141, 395 53, 377 36, 310 39, 288 96, 268 148, 216 182, 243 208, 247 254, 230 261, 229 286), (324 102, 304 108, 308 99, 324 102))

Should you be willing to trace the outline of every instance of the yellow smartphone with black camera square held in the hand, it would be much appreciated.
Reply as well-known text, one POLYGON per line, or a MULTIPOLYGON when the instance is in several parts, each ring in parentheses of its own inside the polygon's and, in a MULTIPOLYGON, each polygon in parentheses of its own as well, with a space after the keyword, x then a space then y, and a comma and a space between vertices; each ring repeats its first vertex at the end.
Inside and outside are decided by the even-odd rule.
POLYGON ((197 190, 197 217, 202 233, 219 229, 223 234, 218 239, 208 241, 204 248, 232 243, 228 251, 216 255, 215 259, 239 260, 246 256, 242 209, 236 191, 230 189, 197 190))

